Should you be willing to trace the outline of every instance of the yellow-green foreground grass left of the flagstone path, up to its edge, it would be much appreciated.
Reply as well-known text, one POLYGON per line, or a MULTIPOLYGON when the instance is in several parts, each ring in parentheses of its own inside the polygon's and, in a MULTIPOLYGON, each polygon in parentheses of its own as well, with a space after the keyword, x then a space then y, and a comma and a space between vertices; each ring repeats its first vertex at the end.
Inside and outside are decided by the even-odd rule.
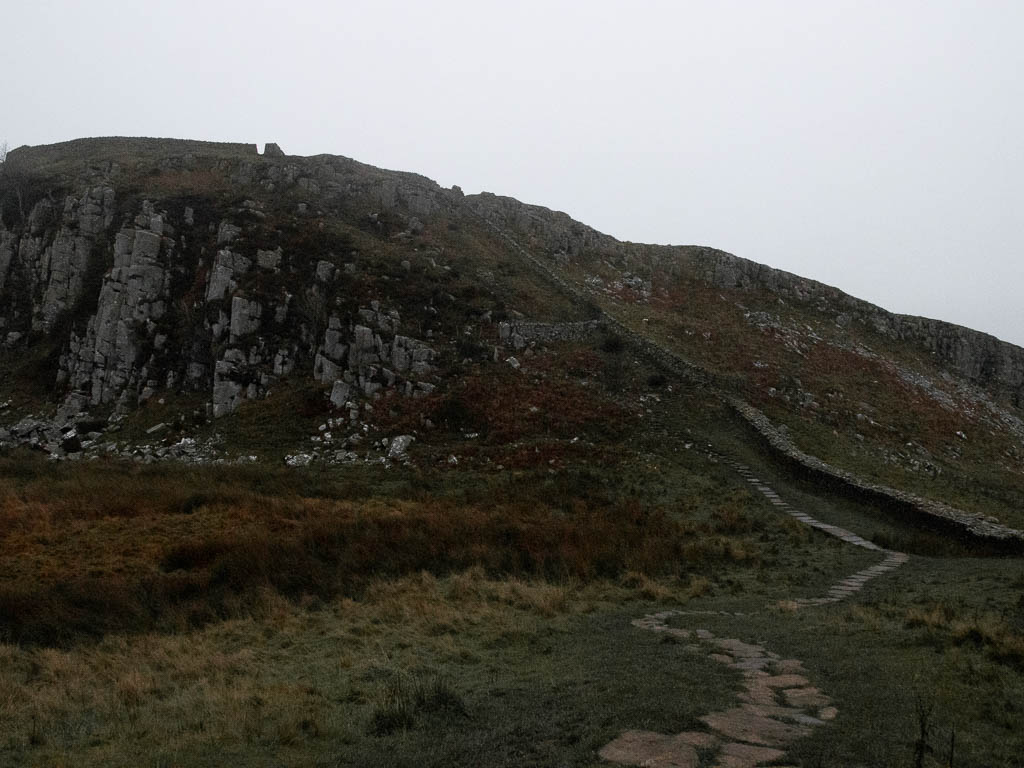
POLYGON ((0 646, 10 724, 0 755, 27 765, 587 765, 622 717, 692 723, 696 702, 666 707, 667 685, 707 687, 723 703, 734 685, 678 645, 632 638, 614 611, 640 597, 471 569, 379 583, 360 601, 314 609, 276 601, 187 635, 0 646))

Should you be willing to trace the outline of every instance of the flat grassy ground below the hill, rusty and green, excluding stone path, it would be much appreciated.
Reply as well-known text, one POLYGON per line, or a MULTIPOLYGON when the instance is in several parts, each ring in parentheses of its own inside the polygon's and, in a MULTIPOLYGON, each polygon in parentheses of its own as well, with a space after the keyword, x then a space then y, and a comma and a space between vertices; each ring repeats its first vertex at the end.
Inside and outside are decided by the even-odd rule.
POLYGON ((927 535, 742 458, 795 507, 918 551, 798 607, 880 555, 696 446, 657 483, 633 463, 438 480, 3 457, 0 765, 602 765, 625 731, 707 730, 742 700, 741 671, 634 626, 667 609, 798 659, 837 708, 777 765, 950 745, 1019 765, 1021 562, 922 554, 927 535))

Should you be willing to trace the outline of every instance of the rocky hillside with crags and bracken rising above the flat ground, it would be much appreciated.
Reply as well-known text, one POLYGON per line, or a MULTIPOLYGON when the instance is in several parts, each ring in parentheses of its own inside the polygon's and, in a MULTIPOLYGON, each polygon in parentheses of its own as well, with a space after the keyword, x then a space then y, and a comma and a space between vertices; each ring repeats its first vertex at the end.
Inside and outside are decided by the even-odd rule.
POLYGON ((401 436, 444 462, 466 434, 601 445, 686 391, 703 436, 738 398, 867 482, 1024 525, 1024 350, 988 335, 274 145, 81 139, 2 169, 0 443, 305 463, 401 436))

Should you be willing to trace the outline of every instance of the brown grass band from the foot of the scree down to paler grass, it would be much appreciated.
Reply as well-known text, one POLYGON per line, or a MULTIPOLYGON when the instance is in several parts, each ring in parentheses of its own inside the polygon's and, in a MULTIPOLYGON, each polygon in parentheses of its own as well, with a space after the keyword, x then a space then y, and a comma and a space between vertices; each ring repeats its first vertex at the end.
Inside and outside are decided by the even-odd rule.
MULTIPOLYGON (((358 597, 375 579, 479 566, 561 583, 754 567, 785 536, 720 500, 680 514, 584 471, 429 478, 0 458, 0 633, 68 645, 187 631, 289 599, 358 597), (116 487, 117 493, 112 494, 116 487)), ((606 478, 605 478, 606 479, 606 478)), ((693 480, 696 482, 696 480, 693 480)))

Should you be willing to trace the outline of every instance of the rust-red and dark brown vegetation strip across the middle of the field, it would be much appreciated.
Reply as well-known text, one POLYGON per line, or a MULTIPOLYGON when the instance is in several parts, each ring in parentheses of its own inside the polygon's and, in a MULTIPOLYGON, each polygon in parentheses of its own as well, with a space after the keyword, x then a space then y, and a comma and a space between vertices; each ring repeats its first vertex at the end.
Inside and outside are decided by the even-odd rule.
POLYGON ((586 581, 736 559, 713 529, 698 536, 664 512, 580 498, 562 510, 527 487, 510 486, 504 496, 517 501, 500 505, 263 496, 244 485, 181 498, 185 479, 130 471, 121 495, 96 487, 31 501, 46 493, 32 486, 0 498, 0 636, 50 644, 183 629, 259 610, 268 591, 357 596, 372 580, 421 570, 480 565, 586 581))

